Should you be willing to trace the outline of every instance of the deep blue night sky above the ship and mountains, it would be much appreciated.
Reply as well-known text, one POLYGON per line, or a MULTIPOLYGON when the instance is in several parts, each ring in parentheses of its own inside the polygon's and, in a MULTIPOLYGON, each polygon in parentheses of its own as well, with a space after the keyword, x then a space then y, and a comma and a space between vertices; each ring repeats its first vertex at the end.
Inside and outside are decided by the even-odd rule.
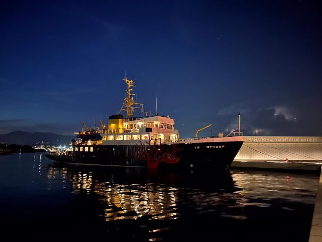
POLYGON ((107 123, 126 69, 181 137, 322 135, 318 0, 2 0, 0 57, 0 134, 107 123))

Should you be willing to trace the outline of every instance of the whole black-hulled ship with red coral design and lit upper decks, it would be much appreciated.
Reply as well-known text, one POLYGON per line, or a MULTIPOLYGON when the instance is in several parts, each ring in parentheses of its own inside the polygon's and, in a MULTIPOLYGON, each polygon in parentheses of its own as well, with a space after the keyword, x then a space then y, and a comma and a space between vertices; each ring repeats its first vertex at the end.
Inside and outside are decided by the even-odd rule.
MULTIPOLYGON (((227 170, 240 150, 244 139, 238 132, 218 137, 180 138, 169 115, 133 117, 135 108, 143 104, 134 101, 135 82, 124 77, 127 85, 122 108, 109 116, 107 127, 84 128, 75 134, 71 150, 46 156, 65 163, 133 166, 148 168, 177 167, 179 169, 227 170), (121 112, 125 112, 125 117, 121 112)), ((143 112, 145 113, 145 112, 143 112)))

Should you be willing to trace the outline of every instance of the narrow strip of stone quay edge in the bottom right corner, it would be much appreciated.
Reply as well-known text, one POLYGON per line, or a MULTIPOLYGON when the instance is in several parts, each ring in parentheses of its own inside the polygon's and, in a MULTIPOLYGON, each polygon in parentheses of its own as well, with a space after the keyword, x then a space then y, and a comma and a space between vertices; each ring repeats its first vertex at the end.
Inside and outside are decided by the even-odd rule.
POLYGON ((309 242, 322 242, 322 171, 315 200, 309 242))

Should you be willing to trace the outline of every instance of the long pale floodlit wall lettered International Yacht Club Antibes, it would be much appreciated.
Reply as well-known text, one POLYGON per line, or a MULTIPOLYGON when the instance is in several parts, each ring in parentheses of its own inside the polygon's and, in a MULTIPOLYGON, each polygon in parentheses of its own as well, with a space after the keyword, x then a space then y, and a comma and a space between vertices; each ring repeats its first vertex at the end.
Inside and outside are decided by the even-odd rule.
POLYGON ((231 167, 318 170, 322 164, 322 137, 243 136, 244 144, 231 167))

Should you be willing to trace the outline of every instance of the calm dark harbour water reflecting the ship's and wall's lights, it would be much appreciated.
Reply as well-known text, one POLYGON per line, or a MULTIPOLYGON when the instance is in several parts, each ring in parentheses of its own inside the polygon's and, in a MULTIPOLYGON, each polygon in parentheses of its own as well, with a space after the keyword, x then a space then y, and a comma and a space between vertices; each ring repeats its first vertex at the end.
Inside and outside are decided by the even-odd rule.
POLYGON ((318 174, 155 173, 0 156, 0 236, 306 242, 318 182, 318 174))

